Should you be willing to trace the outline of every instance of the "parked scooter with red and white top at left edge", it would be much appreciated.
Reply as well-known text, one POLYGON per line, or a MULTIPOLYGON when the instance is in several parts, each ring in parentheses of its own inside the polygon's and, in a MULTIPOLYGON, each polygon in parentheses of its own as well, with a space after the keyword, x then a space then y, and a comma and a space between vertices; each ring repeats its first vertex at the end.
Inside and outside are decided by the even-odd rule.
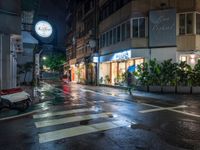
POLYGON ((1 90, 0 110, 3 108, 25 111, 31 104, 31 97, 21 88, 1 90))

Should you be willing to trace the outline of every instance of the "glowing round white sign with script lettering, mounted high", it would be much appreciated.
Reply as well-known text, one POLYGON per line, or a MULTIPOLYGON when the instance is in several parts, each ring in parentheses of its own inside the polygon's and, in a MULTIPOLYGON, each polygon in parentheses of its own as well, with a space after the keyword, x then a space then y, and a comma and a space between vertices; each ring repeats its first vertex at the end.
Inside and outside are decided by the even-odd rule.
POLYGON ((53 28, 47 21, 38 21, 35 25, 35 32, 43 38, 48 38, 53 33, 53 28))

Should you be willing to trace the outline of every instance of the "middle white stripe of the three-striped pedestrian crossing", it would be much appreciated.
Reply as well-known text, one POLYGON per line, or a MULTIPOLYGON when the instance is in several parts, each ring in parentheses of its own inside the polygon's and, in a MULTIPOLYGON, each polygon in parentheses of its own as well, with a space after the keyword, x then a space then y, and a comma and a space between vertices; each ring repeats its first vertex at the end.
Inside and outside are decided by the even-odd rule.
POLYGON ((66 123, 76 122, 76 121, 83 121, 83 120, 90 120, 90 119, 97 119, 97 118, 108 118, 109 115, 112 115, 112 113, 100 113, 100 114, 82 115, 82 116, 75 116, 75 117, 65 117, 61 119, 51 119, 51 120, 35 122, 35 126, 37 128, 41 128, 41 127, 61 125, 61 124, 66 124, 66 123))

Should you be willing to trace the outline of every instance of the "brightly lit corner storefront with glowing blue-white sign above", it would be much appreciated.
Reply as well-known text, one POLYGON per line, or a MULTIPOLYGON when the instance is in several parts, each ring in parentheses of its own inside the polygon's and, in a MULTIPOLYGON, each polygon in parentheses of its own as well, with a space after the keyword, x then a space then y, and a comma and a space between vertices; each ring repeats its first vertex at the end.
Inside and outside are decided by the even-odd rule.
POLYGON ((132 50, 100 57, 99 81, 100 84, 117 85, 124 80, 124 74, 129 67, 144 62, 143 57, 132 57, 132 50))

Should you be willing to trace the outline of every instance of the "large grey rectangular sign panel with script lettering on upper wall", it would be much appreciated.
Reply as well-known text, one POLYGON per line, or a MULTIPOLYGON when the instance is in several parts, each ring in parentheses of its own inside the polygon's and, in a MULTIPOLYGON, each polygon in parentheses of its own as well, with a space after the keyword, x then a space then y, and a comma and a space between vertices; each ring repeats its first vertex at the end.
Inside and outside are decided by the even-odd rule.
POLYGON ((176 10, 153 10, 149 12, 149 46, 176 45, 176 10))

